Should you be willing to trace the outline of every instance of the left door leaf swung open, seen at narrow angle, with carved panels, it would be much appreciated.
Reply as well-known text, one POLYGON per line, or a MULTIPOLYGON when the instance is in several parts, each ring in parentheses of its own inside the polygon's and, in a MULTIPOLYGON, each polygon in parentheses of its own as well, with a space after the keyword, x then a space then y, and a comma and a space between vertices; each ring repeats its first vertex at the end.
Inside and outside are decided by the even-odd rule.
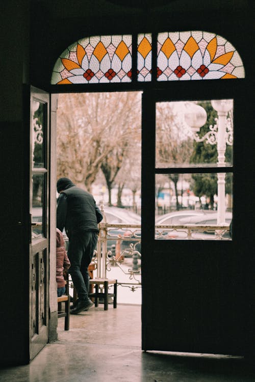
POLYGON ((48 341, 49 95, 31 87, 30 359, 48 341))

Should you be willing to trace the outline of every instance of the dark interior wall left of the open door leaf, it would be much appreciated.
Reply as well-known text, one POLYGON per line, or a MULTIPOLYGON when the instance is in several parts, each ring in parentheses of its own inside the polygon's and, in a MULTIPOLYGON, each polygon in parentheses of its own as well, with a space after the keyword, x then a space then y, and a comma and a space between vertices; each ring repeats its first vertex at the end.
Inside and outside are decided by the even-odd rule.
POLYGON ((1 363, 28 362, 30 2, 1 2, 1 363))

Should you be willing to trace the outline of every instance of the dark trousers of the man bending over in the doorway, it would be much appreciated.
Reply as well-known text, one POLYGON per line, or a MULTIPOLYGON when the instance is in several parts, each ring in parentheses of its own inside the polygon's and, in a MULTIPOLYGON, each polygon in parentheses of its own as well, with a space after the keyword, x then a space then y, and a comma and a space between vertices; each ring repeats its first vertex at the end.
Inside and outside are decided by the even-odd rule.
POLYGON ((68 258, 71 266, 68 269, 73 285, 81 300, 88 300, 89 272, 94 249, 97 244, 96 232, 77 232, 69 237, 68 258))

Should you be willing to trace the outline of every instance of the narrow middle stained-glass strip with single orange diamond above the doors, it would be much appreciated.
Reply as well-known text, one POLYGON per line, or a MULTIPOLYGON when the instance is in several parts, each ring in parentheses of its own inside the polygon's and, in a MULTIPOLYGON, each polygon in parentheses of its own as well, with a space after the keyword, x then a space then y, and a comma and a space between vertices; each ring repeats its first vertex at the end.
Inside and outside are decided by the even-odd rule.
POLYGON ((151 34, 139 34, 137 41, 137 80, 151 81, 151 34))

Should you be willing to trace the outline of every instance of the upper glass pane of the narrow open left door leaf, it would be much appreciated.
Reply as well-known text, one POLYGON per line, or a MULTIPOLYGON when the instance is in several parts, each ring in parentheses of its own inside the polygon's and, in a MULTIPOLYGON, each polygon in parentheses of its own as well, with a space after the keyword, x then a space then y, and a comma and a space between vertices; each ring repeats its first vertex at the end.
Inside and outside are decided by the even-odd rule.
POLYGON ((45 104, 33 99, 33 167, 45 167, 44 140, 45 104))

